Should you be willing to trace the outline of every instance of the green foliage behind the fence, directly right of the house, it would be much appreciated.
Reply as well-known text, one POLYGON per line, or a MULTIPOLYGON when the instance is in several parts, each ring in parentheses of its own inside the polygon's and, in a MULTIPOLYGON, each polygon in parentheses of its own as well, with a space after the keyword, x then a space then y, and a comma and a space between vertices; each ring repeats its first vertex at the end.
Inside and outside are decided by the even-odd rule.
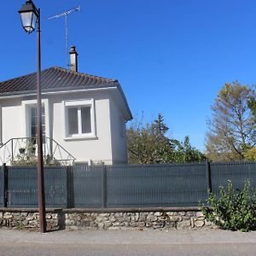
POLYGON ((169 138, 169 127, 161 113, 152 123, 134 122, 127 129, 128 158, 130 164, 194 162, 205 160, 199 150, 192 147, 189 137, 184 142, 169 138))

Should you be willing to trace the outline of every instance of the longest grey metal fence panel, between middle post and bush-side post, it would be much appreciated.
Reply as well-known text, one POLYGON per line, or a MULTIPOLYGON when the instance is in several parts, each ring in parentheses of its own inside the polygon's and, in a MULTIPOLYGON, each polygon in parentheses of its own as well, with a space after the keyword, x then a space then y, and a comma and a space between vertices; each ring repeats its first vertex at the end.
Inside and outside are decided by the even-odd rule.
POLYGON ((107 207, 198 206, 206 191, 205 164, 107 167, 107 207))

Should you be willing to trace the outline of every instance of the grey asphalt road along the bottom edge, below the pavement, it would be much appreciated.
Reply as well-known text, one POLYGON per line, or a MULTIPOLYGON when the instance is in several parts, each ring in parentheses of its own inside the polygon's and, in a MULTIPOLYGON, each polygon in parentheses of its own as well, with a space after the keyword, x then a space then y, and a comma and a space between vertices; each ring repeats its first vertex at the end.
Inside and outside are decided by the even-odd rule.
POLYGON ((88 244, 2 244, 0 255, 255 255, 256 246, 251 244, 171 244, 171 245, 88 245, 88 244))

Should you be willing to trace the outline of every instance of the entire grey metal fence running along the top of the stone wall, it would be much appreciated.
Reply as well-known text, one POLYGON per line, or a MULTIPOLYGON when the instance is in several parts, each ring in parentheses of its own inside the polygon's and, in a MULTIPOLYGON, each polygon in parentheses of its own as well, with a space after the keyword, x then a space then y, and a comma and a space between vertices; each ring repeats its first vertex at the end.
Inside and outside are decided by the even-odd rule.
MULTIPOLYGON (((45 167, 45 201, 46 207, 196 207, 208 189, 218 195, 228 180, 242 189, 247 178, 256 188, 256 162, 45 167)), ((0 168, 3 207, 38 207, 37 188, 37 168, 0 168)))

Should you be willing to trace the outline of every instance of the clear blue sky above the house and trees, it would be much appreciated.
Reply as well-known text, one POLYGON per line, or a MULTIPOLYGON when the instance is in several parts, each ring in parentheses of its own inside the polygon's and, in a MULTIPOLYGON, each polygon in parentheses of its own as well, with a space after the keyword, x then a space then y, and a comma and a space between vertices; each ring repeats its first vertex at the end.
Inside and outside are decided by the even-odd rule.
MULTIPOLYGON (((36 70, 36 33, 27 35, 17 11, 25 1, 3 1, 0 81, 36 70)), ((42 12, 42 68, 66 67, 69 43, 79 71, 119 79, 134 117, 161 112, 170 136, 204 148, 206 120, 226 82, 256 79, 254 0, 35 0, 42 12)))

